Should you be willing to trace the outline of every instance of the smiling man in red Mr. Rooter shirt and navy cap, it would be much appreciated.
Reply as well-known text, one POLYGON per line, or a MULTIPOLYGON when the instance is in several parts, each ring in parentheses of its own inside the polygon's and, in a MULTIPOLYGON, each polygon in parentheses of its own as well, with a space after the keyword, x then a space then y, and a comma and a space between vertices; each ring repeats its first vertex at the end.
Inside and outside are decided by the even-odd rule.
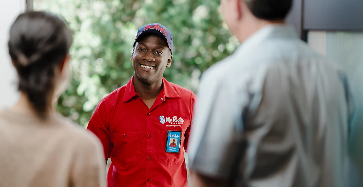
POLYGON ((106 161, 111 157, 109 187, 187 184, 183 149, 196 96, 163 78, 172 52, 172 34, 166 27, 141 27, 131 55, 134 76, 103 98, 91 117, 87 129, 101 140, 106 161))

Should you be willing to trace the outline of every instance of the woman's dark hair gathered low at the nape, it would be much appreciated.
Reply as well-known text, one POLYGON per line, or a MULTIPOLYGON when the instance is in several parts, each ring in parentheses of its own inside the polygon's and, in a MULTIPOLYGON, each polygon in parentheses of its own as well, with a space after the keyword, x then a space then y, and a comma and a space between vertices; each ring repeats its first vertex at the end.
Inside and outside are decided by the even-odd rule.
POLYGON ((24 92, 38 115, 44 117, 54 91, 55 67, 72 46, 64 20, 47 12, 20 14, 10 29, 9 54, 24 92))

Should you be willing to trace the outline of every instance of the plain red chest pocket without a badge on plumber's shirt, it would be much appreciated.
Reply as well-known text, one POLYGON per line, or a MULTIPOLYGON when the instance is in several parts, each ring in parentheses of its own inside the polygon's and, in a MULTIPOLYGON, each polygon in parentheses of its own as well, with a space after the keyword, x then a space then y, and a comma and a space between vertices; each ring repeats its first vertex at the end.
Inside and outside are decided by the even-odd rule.
POLYGON ((136 164, 140 161, 140 132, 115 133, 114 149, 121 164, 136 164))

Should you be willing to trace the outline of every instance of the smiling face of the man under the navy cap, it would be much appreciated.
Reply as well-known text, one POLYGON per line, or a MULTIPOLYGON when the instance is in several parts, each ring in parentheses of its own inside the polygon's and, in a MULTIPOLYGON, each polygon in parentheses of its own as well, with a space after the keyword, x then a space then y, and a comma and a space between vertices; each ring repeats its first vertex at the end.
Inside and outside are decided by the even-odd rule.
POLYGON ((162 79, 165 68, 170 67, 172 55, 165 40, 149 35, 135 43, 131 55, 135 76, 146 84, 162 79))

